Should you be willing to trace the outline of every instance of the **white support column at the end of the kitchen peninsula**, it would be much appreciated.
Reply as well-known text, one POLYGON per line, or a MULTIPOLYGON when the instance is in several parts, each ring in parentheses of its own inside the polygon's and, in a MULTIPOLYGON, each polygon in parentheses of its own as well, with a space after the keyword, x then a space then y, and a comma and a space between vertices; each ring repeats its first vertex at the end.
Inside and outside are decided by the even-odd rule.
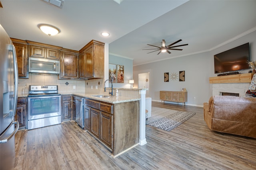
POLYGON ((145 145, 146 141, 146 90, 140 90, 140 145, 145 145))

